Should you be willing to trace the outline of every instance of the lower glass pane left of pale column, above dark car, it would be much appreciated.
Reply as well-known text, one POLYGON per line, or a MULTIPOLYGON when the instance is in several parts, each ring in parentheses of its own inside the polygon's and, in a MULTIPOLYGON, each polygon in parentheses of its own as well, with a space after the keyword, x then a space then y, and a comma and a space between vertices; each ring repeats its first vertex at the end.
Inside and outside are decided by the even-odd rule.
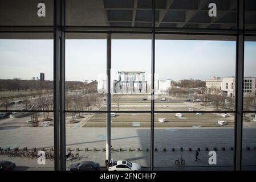
POLYGON ((105 113, 66 113, 67 169, 84 160, 105 166, 105 119, 105 113))

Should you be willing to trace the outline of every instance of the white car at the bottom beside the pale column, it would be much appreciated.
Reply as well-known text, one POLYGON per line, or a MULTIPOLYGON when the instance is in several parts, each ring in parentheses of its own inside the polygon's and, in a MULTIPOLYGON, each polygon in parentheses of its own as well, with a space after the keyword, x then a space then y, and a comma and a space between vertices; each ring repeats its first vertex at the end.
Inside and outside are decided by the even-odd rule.
POLYGON ((127 160, 117 160, 113 162, 113 166, 108 168, 108 171, 140 171, 141 166, 137 163, 131 163, 127 160))

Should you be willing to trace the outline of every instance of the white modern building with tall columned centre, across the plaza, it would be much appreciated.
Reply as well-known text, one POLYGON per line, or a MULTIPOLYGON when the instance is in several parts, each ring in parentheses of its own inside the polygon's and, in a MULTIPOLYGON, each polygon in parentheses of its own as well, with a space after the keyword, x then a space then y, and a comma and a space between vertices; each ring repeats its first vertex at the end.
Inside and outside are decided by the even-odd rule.
MULTIPOLYGON (((155 80, 155 93, 165 93, 170 88, 172 80, 155 80)), ((121 94, 151 93, 151 81, 147 81, 145 72, 118 72, 118 80, 113 80, 111 92, 121 94)), ((107 81, 98 80, 97 91, 105 93, 107 81)))

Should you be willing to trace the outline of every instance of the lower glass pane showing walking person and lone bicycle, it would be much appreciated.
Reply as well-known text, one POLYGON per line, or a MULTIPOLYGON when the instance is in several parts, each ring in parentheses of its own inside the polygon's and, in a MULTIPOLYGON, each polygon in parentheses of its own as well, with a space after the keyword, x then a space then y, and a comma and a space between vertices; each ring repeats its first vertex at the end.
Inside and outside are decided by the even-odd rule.
POLYGON ((233 142, 234 113, 155 113, 155 170, 232 170, 233 142))

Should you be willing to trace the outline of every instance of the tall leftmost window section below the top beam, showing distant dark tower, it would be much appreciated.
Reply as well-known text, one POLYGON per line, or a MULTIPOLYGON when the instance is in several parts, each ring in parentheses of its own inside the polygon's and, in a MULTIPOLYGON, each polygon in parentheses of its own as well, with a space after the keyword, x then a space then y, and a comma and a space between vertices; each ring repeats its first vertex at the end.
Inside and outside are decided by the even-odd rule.
POLYGON ((52 170, 53 41, 51 34, 31 36, 38 39, 1 34, 0 160, 15 163, 19 170, 52 170), (46 157, 44 165, 38 163, 40 154, 46 157))

